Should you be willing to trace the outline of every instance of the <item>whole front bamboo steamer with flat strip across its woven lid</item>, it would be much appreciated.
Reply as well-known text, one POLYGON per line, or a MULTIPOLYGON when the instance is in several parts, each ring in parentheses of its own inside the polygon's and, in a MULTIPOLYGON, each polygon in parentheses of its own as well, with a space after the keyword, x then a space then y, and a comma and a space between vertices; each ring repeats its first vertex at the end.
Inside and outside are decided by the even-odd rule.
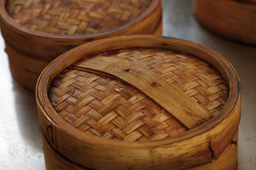
POLYGON ((205 46, 156 36, 87 43, 38 80, 47 168, 236 169, 240 96, 234 68, 205 46))

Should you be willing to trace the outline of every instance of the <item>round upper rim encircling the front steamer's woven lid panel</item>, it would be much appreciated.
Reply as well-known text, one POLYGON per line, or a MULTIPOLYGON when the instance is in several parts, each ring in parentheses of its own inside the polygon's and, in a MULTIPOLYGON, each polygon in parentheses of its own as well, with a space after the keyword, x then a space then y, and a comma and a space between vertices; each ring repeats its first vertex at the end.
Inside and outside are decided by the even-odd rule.
MULTIPOLYGON (((211 66, 212 65, 213 64, 211 63, 211 66)), ((210 129, 216 127, 216 125, 223 122, 223 120, 225 120, 230 115, 230 113, 234 111, 234 108, 236 108, 237 104, 239 104, 240 95, 241 95, 241 91, 240 91, 239 77, 234 67, 232 67, 232 65, 230 64, 230 62, 228 62, 228 60, 222 57, 219 53, 215 52, 211 48, 208 48, 207 46, 200 45, 198 43, 194 43, 184 39, 168 38, 163 36, 148 36, 148 35, 119 36, 119 37, 113 37, 113 38, 106 38, 106 39, 100 39, 97 41, 92 41, 90 43, 86 43, 81 46, 77 46, 76 48, 73 48, 72 50, 69 50, 68 52, 63 53, 58 58, 53 60, 51 64, 45 67, 44 71, 38 78, 38 82, 36 84, 36 103, 38 104, 38 109, 42 112, 42 114, 44 114, 47 120, 49 120, 49 122, 51 122, 51 124, 54 125, 54 127, 58 128, 60 131, 63 131, 70 136, 73 136, 74 138, 81 139, 82 141, 85 141, 88 143, 117 146, 117 147, 124 147, 124 148, 145 148, 145 147, 170 145, 171 143, 177 143, 179 141, 189 139, 194 136, 198 136, 199 134, 202 134, 204 132, 207 132, 210 129), (156 46, 156 48, 165 47, 165 49, 167 50, 168 49, 174 50, 174 51, 179 50, 180 52, 185 52, 185 53, 188 53, 189 51, 190 55, 193 55, 193 53, 190 53, 190 52, 193 52, 196 50, 196 52, 200 52, 202 56, 206 55, 207 57, 205 57, 204 59, 201 58, 202 56, 200 56, 199 58, 204 60, 207 63, 209 63, 210 60, 211 62, 214 62, 214 64, 218 66, 218 69, 216 69, 216 66, 214 66, 214 68, 219 72, 220 72, 220 69, 223 69, 222 71, 224 71, 225 75, 223 75, 224 73, 223 74, 221 73, 221 76, 225 78, 229 88, 228 100, 223 110, 221 110, 221 113, 216 117, 212 118, 211 120, 209 120, 209 122, 206 122, 205 124, 195 127, 189 131, 186 131, 180 134, 179 136, 168 137, 168 138, 164 138, 156 141, 126 142, 126 141, 119 141, 119 140, 113 140, 113 139, 104 139, 97 136, 88 136, 84 134, 82 131, 80 131, 79 129, 72 128, 73 126, 70 124, 67 124, 65 120, 60 118, 58 116, 58 113, 56 113, 56 111, 52 107, 51 102, 49 101, 49 98, 48 98, 49 84, 51 84, 52 80, 54 80, 54 78, 56 78, 56 76, 58 76, 58 74, 61 71, 63 71, 63 69, 70 66, 71 64, 76 63, 78 60, 83 59, 83 57, 86 55, 95 55, 97 53, 106 52, 109 50, 122 49, 122 48, 119 48, 118 46, 120 45, 120 42, 125 43, 125 46, 122 45, 123 49, 132 48, 132 47, 150 48, 150 47, 156 46, 156 43, 157 43, 158 46, 156 46), (111 45, 110 48, 109 46, 106 46, 106 44, 109 45, 111 43, 113 44, 111 45), (186 47, 185 48, 184 46, 180 47, 180 45, 184 45, 186 47), (93 52, 90 52, 90 49, 93 49, 93 52), (71 62, 70 62, 70 59, 72 60, 71 62), (49 115, 49 113, 51 113, 51 115, 49 115), (61 126, 60 125, 61 122, 65 124, 65 126, 61 126), (72 131, 70 131, 70 129, 72 129, 72 131)))

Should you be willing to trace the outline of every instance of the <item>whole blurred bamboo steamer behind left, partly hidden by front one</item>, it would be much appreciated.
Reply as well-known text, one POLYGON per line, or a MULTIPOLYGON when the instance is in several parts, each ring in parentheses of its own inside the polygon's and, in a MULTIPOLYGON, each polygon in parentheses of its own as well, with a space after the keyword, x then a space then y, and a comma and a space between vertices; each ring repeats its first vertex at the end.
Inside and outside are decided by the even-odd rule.
POLYGON ((13 77, 35 90, 61 53, 93 39, 162 34, 161 0, 0 0, 1 32, 13 77))

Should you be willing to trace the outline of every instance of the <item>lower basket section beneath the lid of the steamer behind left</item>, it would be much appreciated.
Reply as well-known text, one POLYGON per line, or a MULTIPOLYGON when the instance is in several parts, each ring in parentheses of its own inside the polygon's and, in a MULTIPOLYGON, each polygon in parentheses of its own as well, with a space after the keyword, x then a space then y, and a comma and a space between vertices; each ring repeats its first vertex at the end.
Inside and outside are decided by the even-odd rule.
MULTIPOLYGON (((162 36, 162 34, 163 22, 159 24, 154 32, 156 36, 162 36)), ((51 61, 36 59, 35 57, 19 52, 8 45, 8 43, 5 43, 5 46, 13 78, 26 89, 35 92, 38 77, 51 61)))

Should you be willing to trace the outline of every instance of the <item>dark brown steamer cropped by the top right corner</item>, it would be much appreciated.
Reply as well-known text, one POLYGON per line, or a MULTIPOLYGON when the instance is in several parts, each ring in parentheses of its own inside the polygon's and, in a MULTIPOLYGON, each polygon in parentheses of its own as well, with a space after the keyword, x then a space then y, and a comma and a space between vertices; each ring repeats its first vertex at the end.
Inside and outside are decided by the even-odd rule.
POLYGON ((193 0, 195 17, 207 29, 230 39, 256 45, 254 0, 193 0))

